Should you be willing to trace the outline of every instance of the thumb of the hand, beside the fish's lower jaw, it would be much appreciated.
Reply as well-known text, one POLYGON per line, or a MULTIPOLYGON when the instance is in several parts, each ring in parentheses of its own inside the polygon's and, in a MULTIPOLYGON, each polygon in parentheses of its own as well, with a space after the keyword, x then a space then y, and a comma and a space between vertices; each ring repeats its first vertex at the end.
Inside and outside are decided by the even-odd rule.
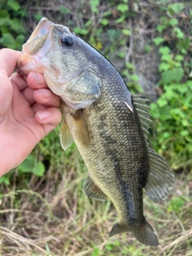
POLYGON ((0 72, 10 77, 13 74, 18 57, 21 52, 18 50, 2 49, 0 50, 0 72))

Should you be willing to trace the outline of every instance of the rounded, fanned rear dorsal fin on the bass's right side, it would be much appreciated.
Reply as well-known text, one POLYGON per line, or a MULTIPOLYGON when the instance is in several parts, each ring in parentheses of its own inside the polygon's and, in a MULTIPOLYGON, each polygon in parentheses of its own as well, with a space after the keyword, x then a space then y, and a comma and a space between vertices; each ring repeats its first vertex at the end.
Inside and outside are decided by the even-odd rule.
POLYGON ((174 186, 174 174, 166 161, 149 148, 150 173, 146 182, 146 194, 154 201, 161 202, 169 194, 169 186, 174 186))

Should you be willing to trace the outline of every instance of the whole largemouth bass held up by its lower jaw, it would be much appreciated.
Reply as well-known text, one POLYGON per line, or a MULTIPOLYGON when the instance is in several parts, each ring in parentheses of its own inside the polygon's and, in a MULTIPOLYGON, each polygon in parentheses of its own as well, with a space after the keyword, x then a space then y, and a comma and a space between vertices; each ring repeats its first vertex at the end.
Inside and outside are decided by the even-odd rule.
POLYGON ((72 142, 86 164, 87 197, 110 199, 118 212, 110 237, 131 232, 147 246, 158 238, 143 213, 143 191, 162 202, 174 174, 147 142, 149 106, 133 95, 118 70, 67 26, 42 18, 22 46, 17 72, 44 74, 61 98, 63 150, 72 142))

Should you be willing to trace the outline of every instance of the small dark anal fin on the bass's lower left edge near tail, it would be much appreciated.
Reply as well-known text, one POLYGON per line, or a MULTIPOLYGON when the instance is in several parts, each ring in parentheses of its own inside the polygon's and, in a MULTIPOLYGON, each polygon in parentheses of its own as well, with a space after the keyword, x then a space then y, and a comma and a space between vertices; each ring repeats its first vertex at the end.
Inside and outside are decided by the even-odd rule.
POLYGON ((88 198, 94 198, 102 201, 107 199, 106 194, 104 194, 102 190, 100 190, 100 188, 92 181, 90 176, 86 178, 83 189, 84 193, 88 198))

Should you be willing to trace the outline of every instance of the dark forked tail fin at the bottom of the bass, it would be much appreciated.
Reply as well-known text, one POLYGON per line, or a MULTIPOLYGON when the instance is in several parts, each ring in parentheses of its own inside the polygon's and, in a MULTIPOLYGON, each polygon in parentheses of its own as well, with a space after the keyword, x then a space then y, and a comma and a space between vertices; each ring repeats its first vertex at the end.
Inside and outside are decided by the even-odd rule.
POLYGON ((158 238, 154 234, 154 230, 150 226, 150 223, 145 220, 141 226, 128 226, 123 223, 115 223, 110 231, 110 237, 114 234, 123 232, 131 232, 139 242, 144 243, 147 246, 158 246, 158 238))

